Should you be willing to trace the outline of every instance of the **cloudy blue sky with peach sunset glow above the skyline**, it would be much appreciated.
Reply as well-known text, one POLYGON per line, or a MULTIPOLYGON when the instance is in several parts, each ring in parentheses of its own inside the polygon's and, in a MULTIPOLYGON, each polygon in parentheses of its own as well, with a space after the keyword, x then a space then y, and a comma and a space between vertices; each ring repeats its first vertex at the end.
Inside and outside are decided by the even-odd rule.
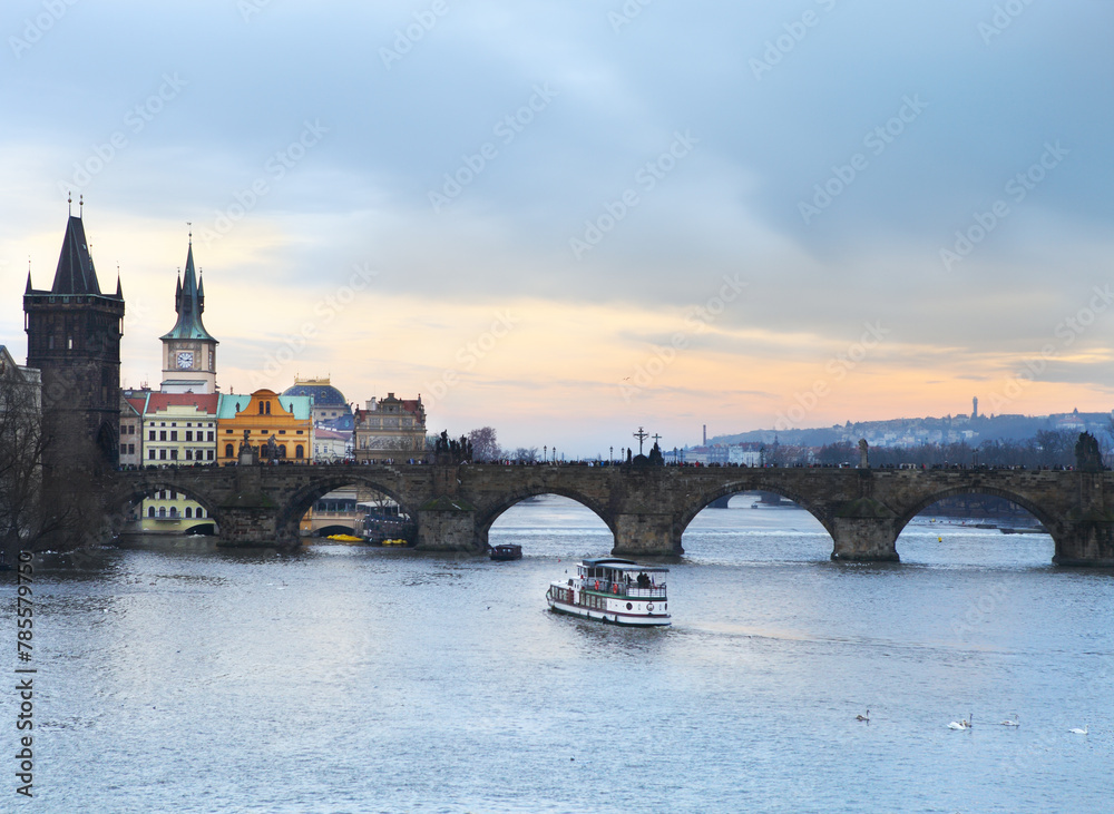
POLYGON ((1107 411, 1112 32, 1108 0, 9 0, 0 343, 71 192, 127 386, 192 232, 222 391, 328 375, 511 449, 1107 411))

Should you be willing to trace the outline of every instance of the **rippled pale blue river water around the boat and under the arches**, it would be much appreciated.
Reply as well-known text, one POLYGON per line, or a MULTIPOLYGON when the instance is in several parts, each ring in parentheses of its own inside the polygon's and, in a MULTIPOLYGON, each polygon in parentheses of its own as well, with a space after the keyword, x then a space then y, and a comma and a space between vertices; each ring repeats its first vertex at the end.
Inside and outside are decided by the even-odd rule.
POLYGON ((750 504, 696 518, 658 630, 548 612, 549 580, 610 545, 556 497, 492 530, 517 562, 149 539, 39 556, 36 797, 13 794, 9 689, 2 808, 1112 810, 1114 575, 928 516, 901 563, 832 563, 807 512, 750 504))

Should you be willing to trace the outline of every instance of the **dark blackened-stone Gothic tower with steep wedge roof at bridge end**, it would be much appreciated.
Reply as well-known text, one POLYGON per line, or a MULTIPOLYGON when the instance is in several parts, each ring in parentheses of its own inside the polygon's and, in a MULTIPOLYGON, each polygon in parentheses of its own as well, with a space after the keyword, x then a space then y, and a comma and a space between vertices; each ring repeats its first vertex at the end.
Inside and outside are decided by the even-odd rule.
POLYGON ((120 337, 124 293, 102 294, 81 217, 72 214, 55 282, 23 292, 27 364, 42 371, 42 425, 48 472, 74 465, 90 473, 119 462, 120 337))

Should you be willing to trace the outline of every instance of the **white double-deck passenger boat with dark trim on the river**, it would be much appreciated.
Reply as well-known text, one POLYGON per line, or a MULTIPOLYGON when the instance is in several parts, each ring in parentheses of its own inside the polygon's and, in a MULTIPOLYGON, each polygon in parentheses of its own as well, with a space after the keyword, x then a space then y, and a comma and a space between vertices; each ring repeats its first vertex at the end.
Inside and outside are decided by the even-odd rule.
POLYGON ((614 557, 584 560, 576 578, 549 585, 549 609, 584 619, 633 627, 668 625, 670 605, 665 594, 668 568, 641 566, 614 557))

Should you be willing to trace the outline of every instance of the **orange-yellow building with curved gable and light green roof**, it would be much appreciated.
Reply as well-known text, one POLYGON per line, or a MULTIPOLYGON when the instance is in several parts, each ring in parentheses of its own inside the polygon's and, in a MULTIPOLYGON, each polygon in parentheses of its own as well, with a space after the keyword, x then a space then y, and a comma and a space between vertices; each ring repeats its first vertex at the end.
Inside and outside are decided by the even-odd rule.
POLYGON ((251 395, 222 394, 217 408, 217 463, 240 460, 240 444, 258 448, 260 459, 309 463, 313 460, 313 398, 256 390, 251 395), (273 441, 273 443, 272 443, 273 441))

